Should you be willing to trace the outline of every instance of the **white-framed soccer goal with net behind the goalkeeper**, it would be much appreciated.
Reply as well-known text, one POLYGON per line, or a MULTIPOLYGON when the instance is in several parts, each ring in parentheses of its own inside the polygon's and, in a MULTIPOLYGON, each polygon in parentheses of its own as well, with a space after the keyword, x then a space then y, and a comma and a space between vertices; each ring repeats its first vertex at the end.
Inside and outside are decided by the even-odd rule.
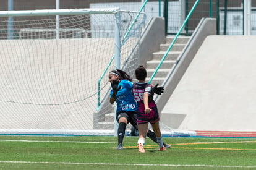
POLYGON ((0 11, 0 134, 113 135, 108 72, 134 70, 145 14, 0 11))

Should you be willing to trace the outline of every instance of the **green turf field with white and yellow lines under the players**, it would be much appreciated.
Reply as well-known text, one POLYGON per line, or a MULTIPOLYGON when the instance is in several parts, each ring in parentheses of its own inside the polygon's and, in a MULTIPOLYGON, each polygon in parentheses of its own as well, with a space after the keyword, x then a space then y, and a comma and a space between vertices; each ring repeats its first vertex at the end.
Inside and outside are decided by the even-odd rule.
POLYGON ((164 137, 158 151, 146 140, 113 136, 0 136, 0 169, 256 169, 256 138, 164 137))

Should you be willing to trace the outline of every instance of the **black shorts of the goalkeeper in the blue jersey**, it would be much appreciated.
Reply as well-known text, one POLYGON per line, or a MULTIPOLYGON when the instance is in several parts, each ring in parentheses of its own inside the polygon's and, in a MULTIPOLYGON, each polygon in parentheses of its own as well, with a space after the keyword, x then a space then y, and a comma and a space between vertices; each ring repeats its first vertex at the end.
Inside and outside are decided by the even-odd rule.
POLYGON ((116 120, 118 122, 118 120, 121 117, 125 117, 128 121, 128 123, 132 124, 132 126, 138 130, 138 126, 137 126, 137 111, 118 111, 116 113, 116 120))

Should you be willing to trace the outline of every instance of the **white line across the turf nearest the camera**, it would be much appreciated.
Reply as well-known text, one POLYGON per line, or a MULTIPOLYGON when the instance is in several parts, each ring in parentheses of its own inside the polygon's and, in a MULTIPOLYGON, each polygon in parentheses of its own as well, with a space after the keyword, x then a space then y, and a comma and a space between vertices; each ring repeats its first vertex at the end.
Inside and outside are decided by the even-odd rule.
POLYGON ((117 164, 117 163, 70 163, 70 162, 30 162, 30 161, 0 161, 0 163, 25 163, 25 164, 92 164, 111 166, 170 166, 170 167, 214 167, 214 168, 256 168, 256 166, 238 165, 211 165, 211 164, 117 164))

